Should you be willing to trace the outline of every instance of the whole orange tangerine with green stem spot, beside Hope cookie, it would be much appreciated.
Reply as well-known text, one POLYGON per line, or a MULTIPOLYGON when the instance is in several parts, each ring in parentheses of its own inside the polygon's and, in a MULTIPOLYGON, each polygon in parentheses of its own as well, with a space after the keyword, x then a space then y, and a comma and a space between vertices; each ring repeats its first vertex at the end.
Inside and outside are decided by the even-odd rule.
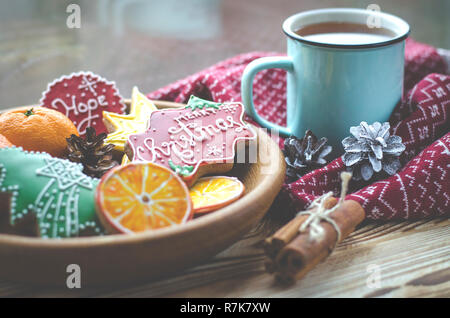
POLYGON ((24 150, 62 157, 67 149, 66 138, 78 136, 78 131, 69 118, 56 110, 22 107, 0 115, 0 134, 24 150))

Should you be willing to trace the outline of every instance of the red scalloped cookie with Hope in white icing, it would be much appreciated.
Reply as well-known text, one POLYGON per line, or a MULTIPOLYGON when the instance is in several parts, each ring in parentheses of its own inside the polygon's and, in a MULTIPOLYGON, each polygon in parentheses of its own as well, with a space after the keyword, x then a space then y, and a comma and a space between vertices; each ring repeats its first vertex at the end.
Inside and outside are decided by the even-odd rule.
POLYGON ((114 82, 91 72, 72 73, 54 80, 41 98, 41 105, 56 109, 72 120, 80 136, 87 127, 107 132, 103 111, 124 114, 125 104, 114 82))

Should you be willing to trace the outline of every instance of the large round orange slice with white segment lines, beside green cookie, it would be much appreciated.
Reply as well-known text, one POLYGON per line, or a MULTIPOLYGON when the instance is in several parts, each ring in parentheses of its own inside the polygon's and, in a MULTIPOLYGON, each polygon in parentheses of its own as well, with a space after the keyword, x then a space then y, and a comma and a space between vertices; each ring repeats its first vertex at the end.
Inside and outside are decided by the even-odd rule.
POLYGON ((100 220, 113 233, 136 233, 182 224, 192 218, 185 183, 150 162, 130 163, 103 176, 96 191, 100 220))

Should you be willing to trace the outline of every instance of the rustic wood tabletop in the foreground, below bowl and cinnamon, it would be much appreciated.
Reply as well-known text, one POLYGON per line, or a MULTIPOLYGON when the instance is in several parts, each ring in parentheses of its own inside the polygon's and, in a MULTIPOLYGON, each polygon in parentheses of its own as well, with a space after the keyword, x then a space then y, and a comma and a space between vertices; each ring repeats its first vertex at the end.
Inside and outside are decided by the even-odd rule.
POLYGON ((0 283, 0 297, 450 297, 450 220, 365 222, 304 279, 281 286, 264 271, 267 221, 205 264, 170 278, 102 289, 0 283), (368 266, 380 267, 369 288, 368 266))

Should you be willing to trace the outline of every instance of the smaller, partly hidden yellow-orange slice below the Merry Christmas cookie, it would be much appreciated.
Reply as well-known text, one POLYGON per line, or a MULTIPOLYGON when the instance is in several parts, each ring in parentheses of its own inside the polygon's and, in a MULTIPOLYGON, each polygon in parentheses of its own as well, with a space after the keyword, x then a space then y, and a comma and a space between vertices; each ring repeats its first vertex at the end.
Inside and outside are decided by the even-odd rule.
POLYGON ((194 213, 206 213, 224 207, 239 199, 244 189, 244 184, 237 178, 200 178, 189 190, 194 213))

